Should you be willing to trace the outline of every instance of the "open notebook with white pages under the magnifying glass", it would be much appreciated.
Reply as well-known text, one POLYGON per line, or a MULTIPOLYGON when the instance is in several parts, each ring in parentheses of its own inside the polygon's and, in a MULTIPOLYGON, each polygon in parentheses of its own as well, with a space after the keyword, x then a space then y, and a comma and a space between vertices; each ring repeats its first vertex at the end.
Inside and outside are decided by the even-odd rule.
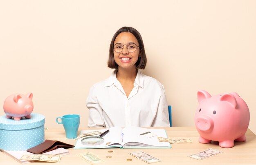
POLYGON ((157 139, 158 136, 167 138, 166 131, 164 129, 110 127, 106 129, 84 130, 81 131, 81 134, 92 131, 99 131, 103 133, 107 130, 109 130, 109 133, 103 136, 104 142, 102 144, 85 145, 81 142, 83 138, 79 138, 74 148, 171 148, 171 145, 168 142, 159 142, 157 139))

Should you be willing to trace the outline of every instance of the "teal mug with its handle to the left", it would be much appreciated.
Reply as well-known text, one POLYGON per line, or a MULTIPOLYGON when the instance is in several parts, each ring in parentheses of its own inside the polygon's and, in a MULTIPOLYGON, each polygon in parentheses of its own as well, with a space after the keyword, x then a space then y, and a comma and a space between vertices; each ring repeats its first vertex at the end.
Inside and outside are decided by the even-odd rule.
POLYGON ((64 115, 62 117, 57 117, 56 122, 58 124, 62 124, 65 132, 66 132, 66 138, 76 138, 77 137, 77 131, 80 124, 80 116, 76 114, 72 115, 64 115), (58 118, 61 119, 61 122, 58 121, 58 118))

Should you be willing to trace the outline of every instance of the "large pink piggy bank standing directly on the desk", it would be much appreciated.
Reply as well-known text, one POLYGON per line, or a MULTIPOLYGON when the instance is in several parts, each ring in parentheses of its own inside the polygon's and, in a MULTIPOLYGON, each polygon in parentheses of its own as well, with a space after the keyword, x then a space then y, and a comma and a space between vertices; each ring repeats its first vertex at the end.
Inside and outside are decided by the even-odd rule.
POLYGON ((218 141, 220 147, 234 146, 234 140, 246 140, 250 113, 245 101, 236 92, 211 96, 198 91, 199 107, 195 112, 195 127, 200 143, 218 141))

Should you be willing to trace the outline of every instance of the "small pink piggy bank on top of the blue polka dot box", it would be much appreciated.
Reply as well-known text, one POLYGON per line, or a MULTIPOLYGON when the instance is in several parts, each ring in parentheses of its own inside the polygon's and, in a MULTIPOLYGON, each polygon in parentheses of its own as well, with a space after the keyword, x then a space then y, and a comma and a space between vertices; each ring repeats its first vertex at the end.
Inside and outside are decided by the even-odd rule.
POLYGON ((6 117, 13 117, 14 120, 20 120, 22 116, 30 118, 30 114, 34 109, 32 97, 32 93, 26 95, 13 94, 8 96, 4 101, 4 112, 6 117))

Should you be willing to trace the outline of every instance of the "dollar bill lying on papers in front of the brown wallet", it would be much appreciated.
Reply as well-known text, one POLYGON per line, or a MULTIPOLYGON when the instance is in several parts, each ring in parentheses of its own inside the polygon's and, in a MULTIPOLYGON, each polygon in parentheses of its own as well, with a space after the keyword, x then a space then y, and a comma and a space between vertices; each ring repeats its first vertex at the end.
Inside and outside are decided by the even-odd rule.
POLYGON ((47 154, 23 155, 20 158, 20 160, 34 160, 34 161, 59 163, 61 160, 61 155, 47 155, 47 154))

